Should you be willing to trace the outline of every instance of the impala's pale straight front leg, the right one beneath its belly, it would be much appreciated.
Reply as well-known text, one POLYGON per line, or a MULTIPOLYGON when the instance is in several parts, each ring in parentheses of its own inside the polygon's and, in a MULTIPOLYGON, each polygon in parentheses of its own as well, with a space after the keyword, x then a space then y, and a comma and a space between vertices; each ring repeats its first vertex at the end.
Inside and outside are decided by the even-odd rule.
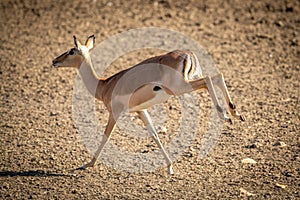
POLYGON ((163 155, 164 155, 164 158, 167 162, 167 165, 168 165, 168 172, 169 174, 174 174, 173 172, 173 168, 172 168, 172 161, 169 157, 169 155, 167 154, 165 148, 163 147, 158 135, 157 135, 157 132, 153 126, 153 123, 152 123, 152 120, 150 118, 150 115, 148 113, 147 110, 142 110, 142 111, 138 111, 137 112, 140 116, 140 118, 142 119, 142 121, 144 122, 145 126, 147 127, 148 131, 150 132, 150 134, 152 135, 155 143, 159 146, 160 150, 162 151, 163 155))

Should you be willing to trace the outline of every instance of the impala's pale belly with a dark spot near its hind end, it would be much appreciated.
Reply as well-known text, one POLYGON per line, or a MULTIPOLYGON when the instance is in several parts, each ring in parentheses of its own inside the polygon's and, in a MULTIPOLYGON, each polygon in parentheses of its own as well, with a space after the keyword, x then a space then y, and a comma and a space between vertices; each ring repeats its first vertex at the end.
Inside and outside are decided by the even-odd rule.
POLYGON ((155 104, 163 103, 170 95, 157 85, 145 85, 137 89, 131 96, 129 106, 130 112, 147 109, 155 104))

